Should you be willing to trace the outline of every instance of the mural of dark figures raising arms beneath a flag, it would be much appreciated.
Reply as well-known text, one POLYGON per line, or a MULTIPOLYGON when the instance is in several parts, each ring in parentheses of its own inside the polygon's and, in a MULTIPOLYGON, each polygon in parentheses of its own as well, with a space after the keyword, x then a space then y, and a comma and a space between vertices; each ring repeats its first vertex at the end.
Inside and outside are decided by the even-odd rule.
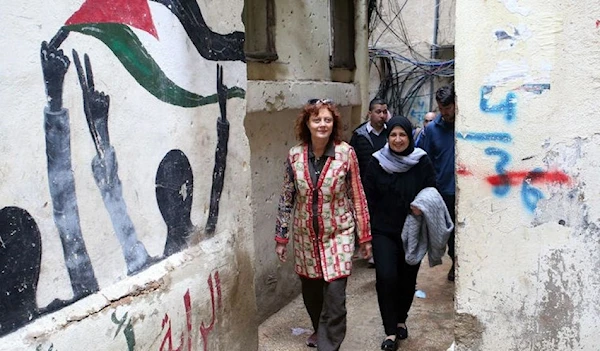
MULTIPOLYGON (((245 62, 243 32, 213 32, 204 21, 202 12, 194 0, 155 2, 166 6, 177 17, 203 59, 245 62)), ((44 313, 56 311, 100 289, 82 234, 71 158, 70 117, 68 109, 63 106, 63 85, 71 62, 77 71, 83 96, 83 111, 96 151, 91 160, 91 172, 120 244, 127 275, 134 275, 162 258, 185 249, 191 244, 192 234, 197 232, 190 219, 193 199, 192 167, 181 150, 173 149, 158 165, 155 179, 157 206, 167 225, 163 255, 151 257, 138 239, 123 197, 117 150, 110 142, 110 96, 96 90, 92 59, 87 54, 83 55, 82 62, 76 50, 72 51, 72 58, 69 58, 60 48, 70 32, 79 32, 103 42, 136 82, 164 103, 186 108, 218 103, 220 116, 217 117, 216 126, 217 145, 205 225, 205 233, 208 236, 215 233, 224 187, 229 139, 227 100, 244 98, 245 91, 236 86, 228 88, 223 83, 224 71, 220 65, 217 65, 215 94, 204 96, 181 88, 162 71, 131 27, 141 29, 156 40, 159 39, 148 0, 87 0, 50 41, 41 43, 40 60, 48 101, 44 109, 44 131, 49 195, 73 297, 67 301, 55 299, 46 307, 38 307, 36 289, 43 233, 40 233, 35 220, 26 210, 18 207, 3 208, 0 211, 0 336, 17 330, 44 313)), ((218 281, 218 273, 215 280, 218 281)), ((212 295, 210 279, 209 285, 212 295)), ((220 285, 218 292, 220 301, 220 285)), ((214 296, 211 298, 214 302, 214 296)), ((124 325, 127 316, 121 319, 114 315, 113 317, 115 323, 118 322, 119 329, 123 329, 128 338, 128 345, 130 339, 135 345, 131 325, 124 325)), ((212 325, 214 313, 213 322, 208 327, 204 327, 203 324, 200 328, 203 338, 202 331, 209 330, 212 325)), ((118 333, 119 331, 115 337, 118 333)))

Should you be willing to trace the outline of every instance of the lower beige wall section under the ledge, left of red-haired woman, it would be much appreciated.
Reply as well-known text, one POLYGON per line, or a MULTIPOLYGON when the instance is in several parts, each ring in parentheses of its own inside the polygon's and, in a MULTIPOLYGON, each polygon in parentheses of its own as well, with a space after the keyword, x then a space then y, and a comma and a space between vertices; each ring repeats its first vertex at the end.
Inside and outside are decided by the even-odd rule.
MULTIPOLYGON (((298 143, 294 122, 300 110, 251 113, 244 129, 250 145, 257 321, 261 323, 300 292, 293 259, 280 264, 275 254, 275 216, 281 195, 284 161, 298 143), (268 132, 265 132, 268 131, 268 132)), ((289 252, 293 252, 290 248, 289 252)))

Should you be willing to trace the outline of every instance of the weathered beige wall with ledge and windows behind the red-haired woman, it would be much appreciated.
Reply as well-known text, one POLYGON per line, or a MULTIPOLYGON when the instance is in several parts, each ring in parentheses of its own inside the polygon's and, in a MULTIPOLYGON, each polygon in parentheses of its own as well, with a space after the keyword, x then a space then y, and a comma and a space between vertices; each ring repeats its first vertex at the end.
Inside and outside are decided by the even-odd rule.
POLYGON ((279 59, 267 64, 248 63, 251 80, 245 128, 251 150, 255 288, 260 321, 300 292, 293 258, 280 264, 274 250, 283 162, 289 148, 298 143, 294 134, 296 116, 308 99, 332 99, 342 107, 349 136, 364 113, 367 90, 361 86, 367 81, 368 60, 365 2, 355 1, 355 8, 356 70, 329 67, 329 9, 327 2, 316 0, 277 1, 275 42, 279 59))

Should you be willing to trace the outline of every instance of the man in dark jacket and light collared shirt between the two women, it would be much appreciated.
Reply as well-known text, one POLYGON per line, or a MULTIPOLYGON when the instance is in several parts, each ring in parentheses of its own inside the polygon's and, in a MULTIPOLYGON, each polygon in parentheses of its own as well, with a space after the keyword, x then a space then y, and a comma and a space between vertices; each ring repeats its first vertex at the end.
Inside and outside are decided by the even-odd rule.
POLYGON ((356 151, 361 179, 371 160, 371 155, 381 149, 387 142, 388 132, 385 122, 388 119, 387 103, 383 99, 375 98, 369 103, 368 120, 358 126, 352 133, 350 145, 356 151))

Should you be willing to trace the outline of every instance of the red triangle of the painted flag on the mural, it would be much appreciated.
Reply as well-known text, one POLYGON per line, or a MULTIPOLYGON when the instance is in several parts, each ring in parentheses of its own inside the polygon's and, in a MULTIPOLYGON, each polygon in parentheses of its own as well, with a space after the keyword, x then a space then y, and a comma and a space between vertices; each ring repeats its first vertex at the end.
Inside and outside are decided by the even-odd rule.
POLYGON ((148 0, 86 0, 65 25, 86 23, 126 24, 158 39, 148 0))

